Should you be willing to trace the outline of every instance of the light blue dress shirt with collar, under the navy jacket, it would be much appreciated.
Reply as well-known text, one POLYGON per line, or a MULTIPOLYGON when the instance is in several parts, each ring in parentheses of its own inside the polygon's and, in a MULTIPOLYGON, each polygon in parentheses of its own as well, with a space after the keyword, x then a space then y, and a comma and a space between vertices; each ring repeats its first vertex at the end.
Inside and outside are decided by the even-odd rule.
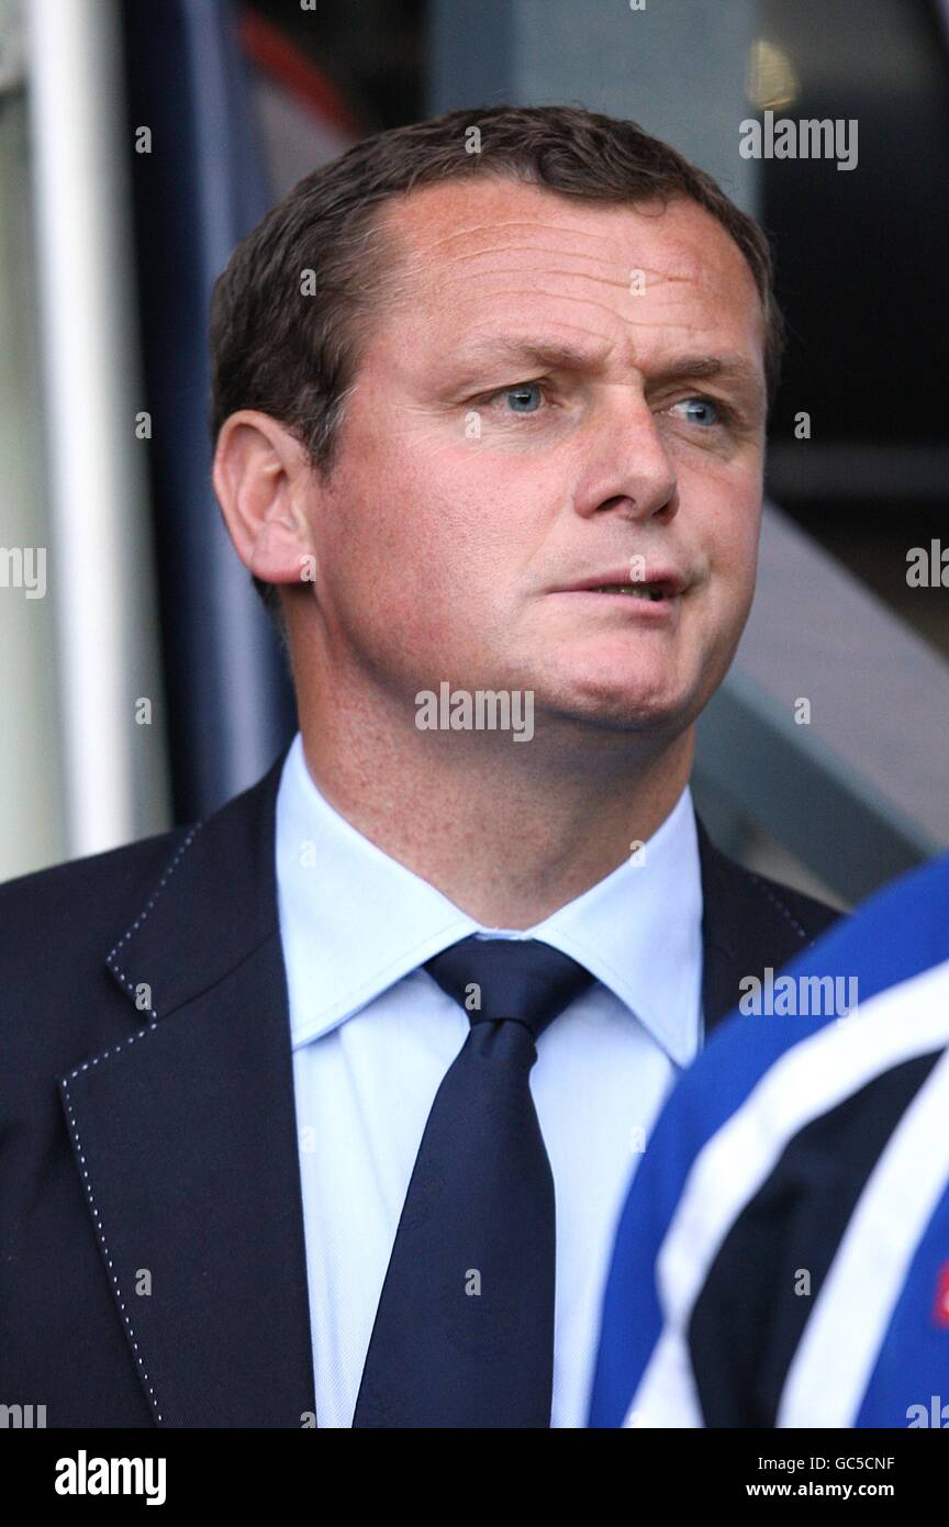
MULTIPOLYGON (((503 867, 500 867, 503 873, 503 867)), ((351 1426, 409 1177, 468 1035, 424 960, 471 933, 536 938, 595 983, 537 1044, 557 1197, 552 1426, 583 1426, 630 1173, 700 1038, 702 878, 688 788, 638 854, 528 931, 485 928, 320 794, 298 733, 276 802, 317 1426, 351 1426)))

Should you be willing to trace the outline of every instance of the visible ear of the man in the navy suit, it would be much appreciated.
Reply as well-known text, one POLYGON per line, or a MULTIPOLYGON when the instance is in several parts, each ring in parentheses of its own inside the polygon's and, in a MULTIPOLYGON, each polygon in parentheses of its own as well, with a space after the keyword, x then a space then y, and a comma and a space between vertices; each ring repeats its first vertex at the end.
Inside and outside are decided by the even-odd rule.
POLYGON ((221 425, 214 492, 236 553, 264 583, 313 577, 305 512, 313 476, 299 440, 269 414, 243 408, 221 425))

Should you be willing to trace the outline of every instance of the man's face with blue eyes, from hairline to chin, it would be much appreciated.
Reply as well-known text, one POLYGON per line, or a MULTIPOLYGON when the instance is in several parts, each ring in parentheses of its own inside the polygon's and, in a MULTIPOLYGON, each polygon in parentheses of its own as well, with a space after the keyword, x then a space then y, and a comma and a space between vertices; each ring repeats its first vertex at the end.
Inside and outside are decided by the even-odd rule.
POLYGON ((691 202, 505 180, 384 215, 397 293, 313 507, 331 667, 412 713, 444 680, 532 690, 537 731, 676 734, 754 592, 764 327, 740 250, 691 202))

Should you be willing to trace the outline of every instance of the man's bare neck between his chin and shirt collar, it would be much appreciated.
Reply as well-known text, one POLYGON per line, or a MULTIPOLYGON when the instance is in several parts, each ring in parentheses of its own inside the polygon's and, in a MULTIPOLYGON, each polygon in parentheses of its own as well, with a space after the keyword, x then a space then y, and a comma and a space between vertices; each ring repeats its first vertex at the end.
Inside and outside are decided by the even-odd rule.
POLYGON ((375 704, 333 702, 298 673, 307 767, 363 837, 474 921, 529 928, 612 873, 665 822, 694 730, 664 742, 539 718, 529 742, 418 731, 375 704))

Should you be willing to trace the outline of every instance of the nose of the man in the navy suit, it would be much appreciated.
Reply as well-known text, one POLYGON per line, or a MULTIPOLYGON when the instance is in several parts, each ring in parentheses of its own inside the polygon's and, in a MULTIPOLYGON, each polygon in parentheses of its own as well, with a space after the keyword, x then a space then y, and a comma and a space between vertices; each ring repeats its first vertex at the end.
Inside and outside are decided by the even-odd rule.
POLYGON ((619 391, 622 397, 581 444, 574 508, 589 519, 615 515, 667 524, 679 508, 674 463, 645 399, 630 400, 624 388, 619 391))

